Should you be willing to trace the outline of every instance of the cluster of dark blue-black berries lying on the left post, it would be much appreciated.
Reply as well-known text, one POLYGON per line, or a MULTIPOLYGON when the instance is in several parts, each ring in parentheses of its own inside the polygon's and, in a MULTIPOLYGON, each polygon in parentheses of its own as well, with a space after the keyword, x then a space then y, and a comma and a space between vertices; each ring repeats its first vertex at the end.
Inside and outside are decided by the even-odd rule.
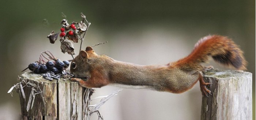
POLYGON ((69 61, 61 61, 60 59, 57 59, 55 62, 48 61, 46 64, 41 64, 38 62, 30 63, 29 69, 30 71, 33 71, 34 73, 45 73, 48 71, 52 71, 55 74, 61 73, 64 69, 68 68, 69 61))

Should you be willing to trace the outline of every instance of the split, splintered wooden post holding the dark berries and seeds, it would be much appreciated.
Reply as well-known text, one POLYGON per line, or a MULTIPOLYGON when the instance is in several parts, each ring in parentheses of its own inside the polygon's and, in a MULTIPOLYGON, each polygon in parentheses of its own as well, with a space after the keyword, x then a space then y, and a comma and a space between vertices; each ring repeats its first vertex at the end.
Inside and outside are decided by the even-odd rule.
POLYGON ((32 72, 23 73, 16 91, 20 95, 23 120, 85 120, 85 88, 68 79, 46 80, 32 72))

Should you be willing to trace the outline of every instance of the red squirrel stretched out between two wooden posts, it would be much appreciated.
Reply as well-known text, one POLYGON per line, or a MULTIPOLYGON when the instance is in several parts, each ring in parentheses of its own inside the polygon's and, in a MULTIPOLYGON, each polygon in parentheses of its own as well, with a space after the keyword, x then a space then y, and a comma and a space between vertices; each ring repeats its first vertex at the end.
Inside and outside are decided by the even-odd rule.
POLYGON ((204 67, 201 63, 208 61, 209 56, 226 67, 246 69, 247 62, 241 49, 228 37, 212 35, 200 39, 187 57, 164 65, 125 63, 97 55, 92 47, 87 47, 71 62, 70 72, 77 77, 71 81, 86 88, 112 84, 171 93, 188 91, 199 81, 202 94, 208 96, 211 91, 206 85, 211 83, 203 80, 202 72, 213 67, 204 67))

